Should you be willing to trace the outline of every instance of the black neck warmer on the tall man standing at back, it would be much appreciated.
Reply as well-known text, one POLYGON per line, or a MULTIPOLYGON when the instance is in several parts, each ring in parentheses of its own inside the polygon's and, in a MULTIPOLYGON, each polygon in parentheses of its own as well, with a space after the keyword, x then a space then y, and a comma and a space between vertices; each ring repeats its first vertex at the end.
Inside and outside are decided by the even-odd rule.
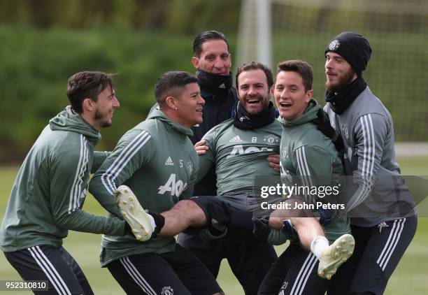
POLYGON ((198 70, 196 76, 205 103, 217 104, 229 99, 229 89, 232 87, 231 72, 229 75, 217 75, 198 70))

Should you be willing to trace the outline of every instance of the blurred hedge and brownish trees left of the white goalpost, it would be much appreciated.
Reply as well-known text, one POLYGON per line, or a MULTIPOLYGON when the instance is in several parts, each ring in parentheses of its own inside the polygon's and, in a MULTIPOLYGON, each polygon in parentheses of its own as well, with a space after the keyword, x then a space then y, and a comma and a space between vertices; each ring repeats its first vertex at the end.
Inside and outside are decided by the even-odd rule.
POLYGON ((78 71, 115 77, 122 107, 97 147, 110 150, 155 103, 165 71, 194 72, 194 36, 227 34, 234 52, 239 0, 0 0, 0 163, 22 161, 67 104, 78 71))

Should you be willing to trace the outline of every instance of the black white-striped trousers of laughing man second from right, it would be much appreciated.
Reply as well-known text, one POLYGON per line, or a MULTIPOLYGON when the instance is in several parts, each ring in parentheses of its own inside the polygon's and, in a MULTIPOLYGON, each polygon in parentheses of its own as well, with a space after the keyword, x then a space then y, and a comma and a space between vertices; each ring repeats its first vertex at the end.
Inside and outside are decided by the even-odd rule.
POLYGON ((318 259, 299 243, 291 243, 272 264, 259 295, 324 295, 330 281, 318 276, 318 259))

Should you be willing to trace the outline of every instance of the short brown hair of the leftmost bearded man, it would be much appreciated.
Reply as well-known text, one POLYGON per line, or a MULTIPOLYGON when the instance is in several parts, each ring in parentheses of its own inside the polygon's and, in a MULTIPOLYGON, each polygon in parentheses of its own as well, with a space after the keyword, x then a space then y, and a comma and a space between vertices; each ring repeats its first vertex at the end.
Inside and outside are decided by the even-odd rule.
POLYGON ((67 96, 71 103, 71 108, 76 113, 82 113, 82 103, 84 99, 98 100, 100 94, 106 87, 114 89, 113 74, 98 71, 83 71, 75 73, 69 78, 67 85, 67 96))

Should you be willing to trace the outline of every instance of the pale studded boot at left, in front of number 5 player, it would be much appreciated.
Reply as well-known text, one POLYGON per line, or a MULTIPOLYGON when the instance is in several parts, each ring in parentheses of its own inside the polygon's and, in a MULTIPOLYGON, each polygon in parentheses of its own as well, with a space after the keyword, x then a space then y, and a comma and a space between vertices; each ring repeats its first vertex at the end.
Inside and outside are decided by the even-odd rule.
POLYGON ((117 187, 115 196, 117 206, 124 220, 131 226, 132 233, 137 240, 144 242, 149 240, 154 231, 150 223, 150 217, 145 213, 135 194, 127 185, 117 187))

